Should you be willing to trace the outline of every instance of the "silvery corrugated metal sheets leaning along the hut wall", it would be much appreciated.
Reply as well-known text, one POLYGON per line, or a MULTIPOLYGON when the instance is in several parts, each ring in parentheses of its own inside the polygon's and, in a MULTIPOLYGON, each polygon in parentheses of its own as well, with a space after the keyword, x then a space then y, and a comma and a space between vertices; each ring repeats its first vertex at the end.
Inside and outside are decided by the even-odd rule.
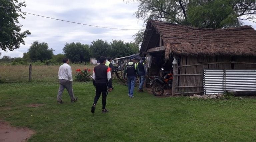
POLYGON ((256 91, 256 70, 204 69, 204 94, 256 91))

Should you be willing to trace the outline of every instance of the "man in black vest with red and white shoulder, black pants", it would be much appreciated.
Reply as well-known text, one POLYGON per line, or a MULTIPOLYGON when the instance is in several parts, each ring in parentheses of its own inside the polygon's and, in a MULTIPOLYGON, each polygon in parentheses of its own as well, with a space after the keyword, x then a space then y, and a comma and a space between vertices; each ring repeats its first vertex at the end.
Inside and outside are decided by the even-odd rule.
POLYGON ((108 92, 112 91, 112 78, 111 78, 111 69, 105 65, 106 57, 100 57, 100 64, 94 67, 92 74, 93 86, 96 89, 96 95, 94 97, 93 106, 91 112, 95 112, 96 104, 102 94, 102 111, 103 113, 108 112, 106 109, 107 95, 108 92))

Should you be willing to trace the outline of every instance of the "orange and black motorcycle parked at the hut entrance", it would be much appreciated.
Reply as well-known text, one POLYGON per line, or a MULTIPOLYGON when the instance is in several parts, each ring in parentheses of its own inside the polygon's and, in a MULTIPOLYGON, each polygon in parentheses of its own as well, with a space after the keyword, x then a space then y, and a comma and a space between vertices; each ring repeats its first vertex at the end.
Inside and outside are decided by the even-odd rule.
POLYGON ((150 86, 152 85, 152 92, 155 96, 164 94, 165 89, 172 88, 172 73, 168 72, 164 77, 150 76, 150 86))

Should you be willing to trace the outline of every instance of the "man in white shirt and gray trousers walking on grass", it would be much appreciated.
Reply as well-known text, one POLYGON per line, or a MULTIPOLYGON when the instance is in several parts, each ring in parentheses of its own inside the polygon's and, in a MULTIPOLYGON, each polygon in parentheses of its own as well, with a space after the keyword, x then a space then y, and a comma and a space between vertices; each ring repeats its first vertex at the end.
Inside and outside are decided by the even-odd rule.
POLYGON ((70 96, 71 99, 71 103, 76 102, 77 98, 75 98, 74 92, 73 92, 73 88, 72 88, 72 70, 71 70, 71 66, 69 65, 69 59, 68 58, 64 58, 63 59, 63 65, 60 66, 59 68, 59 91, 58 91, 58 104, 62 104, 62 93, 64 91, 64 89, 66 88, 68 91, 68 94, 70 96))

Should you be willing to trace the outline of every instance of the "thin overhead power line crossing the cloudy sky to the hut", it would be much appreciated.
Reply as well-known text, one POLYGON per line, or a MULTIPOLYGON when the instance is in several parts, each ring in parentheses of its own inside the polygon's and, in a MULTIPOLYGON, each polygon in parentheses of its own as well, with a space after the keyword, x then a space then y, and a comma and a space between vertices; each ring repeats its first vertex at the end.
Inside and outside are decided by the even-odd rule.
MULTIPOLYGON (((23 12, 23 11, 20 11, 20 10, 15 10, 15 9, 3 7, 3 6, 0 6, 0 7, 5 8, 5 9, 9 9, 9 10, 14 10, 14 11, 26 13, 26 14, 31 14, 31 15, 35 15, 35 16, 40 16, 40 17, 44 17, 44 18, 49 18, 49 19, 54 19, 54 20, 59 20, 59 21, 64 21, 64 22, 69 22, 69 23, 75 23, 75 24, 80 24, 80 25, 86 25, 86 26, 98 27, 98 28, 116 29, 116 30, 141 30, 141 29, 119 29, 119 28, 101 27, 101 26, 95 26, 95 25, 89 25, 89 24, 83 24, 83 23, 77 23, 77 22, 72 22, 72 21, 66 21, 66 20, 51 18, 51 17, 42 16, 42 15, 37 15, 37 14, 33 14, 33 13, 28 13, 28 12, 23 12)), ((146 29, 145 29, 145 30, 146 30, 146 29)), ((154 29, 147 29, 147 30, 154 30, 154 29)))

